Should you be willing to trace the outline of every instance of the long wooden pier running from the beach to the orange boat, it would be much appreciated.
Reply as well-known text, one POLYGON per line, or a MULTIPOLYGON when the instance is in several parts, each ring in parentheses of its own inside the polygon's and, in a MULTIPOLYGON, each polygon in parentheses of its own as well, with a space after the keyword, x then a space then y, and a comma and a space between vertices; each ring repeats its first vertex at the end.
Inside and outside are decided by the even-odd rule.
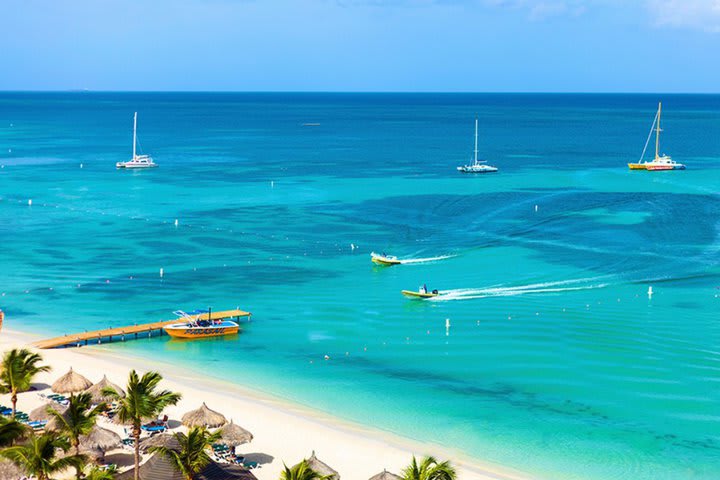
MULTIPOLYGON (((202 313, 200 315, 192 315, 197 320, 224 320, 226 318, 249 317, 250 312, 242 310, 226 310, 224 312, 202 313)), ((104 330, 95 330, 92 332, 82 332, 63 335, 62 337, 41 340, 33 344, 36 348, 58 348, 58 347, 80 347, 88 345, 90 342, 101 344, 103 342, 112 342, 114 340, 130 340, 138 338, 138 335, 146 333, 148 337, 152 337, 154 331, 159 331, 159 335, 163 334, 163 327, 172 325, 173 323, 181 323, 184 319, 175 318, 173 320, 165 320, 153 323, 143 323, 139 325, 130 325, 127 327, 106 328, 104 330)))

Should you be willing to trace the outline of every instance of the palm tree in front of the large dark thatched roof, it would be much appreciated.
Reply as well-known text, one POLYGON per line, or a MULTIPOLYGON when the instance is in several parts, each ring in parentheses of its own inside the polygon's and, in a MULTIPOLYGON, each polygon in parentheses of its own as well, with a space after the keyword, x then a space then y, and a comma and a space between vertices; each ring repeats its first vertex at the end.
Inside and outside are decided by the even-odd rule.
POLYGON ((175 434, 179 448, 158 446, 150 447, 148 451, 164 456, 186 480, 194 480, 195 475, 212 461, 206 450, 212 447, 220 435, 219 431, 211 433, 205 427, 193 427, 187 435, 175 434))

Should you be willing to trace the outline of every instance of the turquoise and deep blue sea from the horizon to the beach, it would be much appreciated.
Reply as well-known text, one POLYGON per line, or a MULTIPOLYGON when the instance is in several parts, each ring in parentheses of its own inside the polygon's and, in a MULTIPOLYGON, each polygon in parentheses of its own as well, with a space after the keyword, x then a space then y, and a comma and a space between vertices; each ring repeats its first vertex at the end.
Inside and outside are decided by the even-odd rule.
POLYGON ((720 96, 663 96, 688 170, 630 172, 659 99, 0 94, 0 308, 53 335, 239 306, 237 338, 105 348, 539 478, 716 479, 720 96), (160 168, 116 171, 136 110, 160 168), (496 175, 455 172, 475 115, 496 175))

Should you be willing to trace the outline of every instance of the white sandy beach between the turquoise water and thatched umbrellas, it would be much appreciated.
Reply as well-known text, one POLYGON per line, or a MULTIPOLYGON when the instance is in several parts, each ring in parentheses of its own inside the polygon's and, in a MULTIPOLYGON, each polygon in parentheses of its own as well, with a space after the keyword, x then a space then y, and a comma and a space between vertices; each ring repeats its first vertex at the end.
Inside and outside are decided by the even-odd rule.
MULTIPOLYGON (((37 338, 28 334, 3 330, 0 332, 0 352, 27 346, 34 340, 37 338)), ((99 381, 106 374, 110 381, 120 386, 125 385, 132 368, 140 372, 159 371, 165 378, 163 388, 183 394, 178 405, 167 409, 170 419, 180 419, 183 413, 205 402, 213 410, 221 412, 228 419, 232 418, 235 423, 253 433, 255 438, 252 443, 243 445, 240 450, 249 459, 256 456, 265 461, 253 471, 260 480, 277 479, 283 462, 293 465, 310 456, 313 450, 318 458, 337 470, 345 480, 366 480, 384 468, 400 473, 413 454, 432 454, 439 459, 451 460, 458 469, 459 478, 463 480, 529 478, 510 469, 463 458, 458 452, 447 448, 343 422, 237 385, 179 372, 171 365, 149 365, 146 360, 114 355, 111 349, 83 347, 42 350, 40 353, 46 363, 53 367, 53 371, 39 375, 36 382, 40 388, 48 388, 71 366, 93 382, 99 381)), ((9 396, 0 395, 0 403, 8 405, 9 396)), ((18 408, 30 412, 42 403, 37 391, 26 392, 20 395, 18 408)), ((103 426, 122 433, 121 427, 103 426)))

